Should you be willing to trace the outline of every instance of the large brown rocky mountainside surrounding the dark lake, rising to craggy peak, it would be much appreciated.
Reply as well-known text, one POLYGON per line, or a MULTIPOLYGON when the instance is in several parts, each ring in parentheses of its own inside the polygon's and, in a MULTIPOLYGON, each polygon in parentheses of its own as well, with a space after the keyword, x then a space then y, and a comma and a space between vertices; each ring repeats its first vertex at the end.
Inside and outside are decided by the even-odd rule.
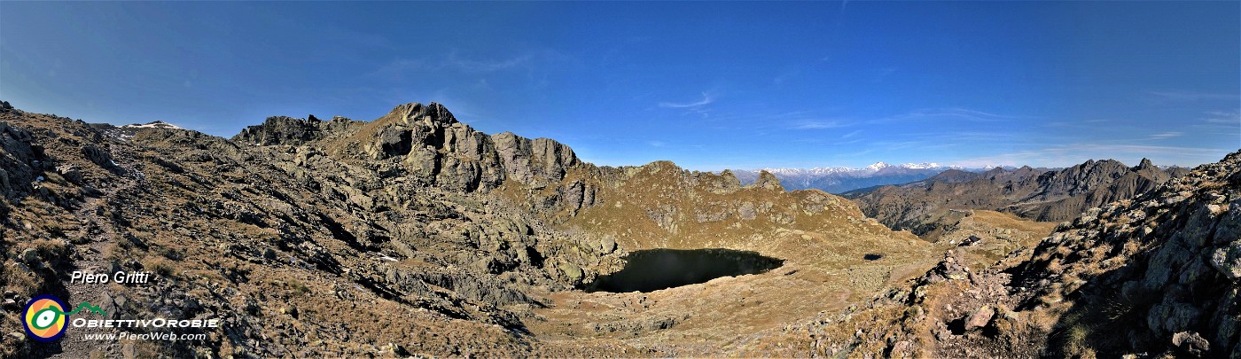
POLYGON ((787 193, 769 174, 741 186, 666 161, 594 166, 434 103, 371 122, 272 117, 232 139, 4 103, 0 145, 0 357, 721 355, 934 261, 853 202, 787 193), (581 291, 655 247, 786 265, 653 293, 581 291), (71 284, 73 271, 155 275, 71 284), (109 318, 225 325, 181 342, 71 328, 37 343, 17 317, 43 293, 109 318))

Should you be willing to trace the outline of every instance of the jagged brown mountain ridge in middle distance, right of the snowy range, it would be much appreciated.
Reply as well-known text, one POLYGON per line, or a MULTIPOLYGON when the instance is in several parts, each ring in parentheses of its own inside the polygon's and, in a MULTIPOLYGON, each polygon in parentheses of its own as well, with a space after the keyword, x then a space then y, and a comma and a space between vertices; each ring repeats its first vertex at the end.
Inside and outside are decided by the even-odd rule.
POLYGON ((1183 168, 1159 169, 1148 159, 1133 168, 1116 160, 1088 160, 1062 170, 948 170, 922 181, 844 195, 892 229, 925 235, 943 226, 942 217, 949 210, 999 210, 1035 221, 1065 221, 1086 209, 1134 198, 1185 173, 1183 168))

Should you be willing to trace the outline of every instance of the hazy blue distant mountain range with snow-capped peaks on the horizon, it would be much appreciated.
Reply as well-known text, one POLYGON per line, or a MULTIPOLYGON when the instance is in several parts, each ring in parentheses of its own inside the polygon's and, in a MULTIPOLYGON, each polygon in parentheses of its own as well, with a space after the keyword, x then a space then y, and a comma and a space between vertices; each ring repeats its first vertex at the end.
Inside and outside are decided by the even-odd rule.
POLYGON ((758 179, 758 174, 766 170, 776 175, 781 184, 788 190, 820 189, 827 193, 839 194, 855 189, 920 181, 949 169, 984 171, 989 168, 965 169, 959 166, 941 165, 937 163, 907 163, 894 165, 880 161, 865 168, 779 168, 762 170, 732 170, 732 173, 741 180, 741 183, 748 184, 758 179))

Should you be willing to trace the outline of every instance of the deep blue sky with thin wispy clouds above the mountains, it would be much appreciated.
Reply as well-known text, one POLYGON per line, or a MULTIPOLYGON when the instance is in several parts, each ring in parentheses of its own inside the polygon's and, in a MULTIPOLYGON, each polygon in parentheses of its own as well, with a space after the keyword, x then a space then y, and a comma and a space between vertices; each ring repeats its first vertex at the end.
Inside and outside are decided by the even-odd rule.
POLYGON ((0 2, 0 99, 231 137, 441 102, 603 165, 1215 161, 1241 2, 0 2))

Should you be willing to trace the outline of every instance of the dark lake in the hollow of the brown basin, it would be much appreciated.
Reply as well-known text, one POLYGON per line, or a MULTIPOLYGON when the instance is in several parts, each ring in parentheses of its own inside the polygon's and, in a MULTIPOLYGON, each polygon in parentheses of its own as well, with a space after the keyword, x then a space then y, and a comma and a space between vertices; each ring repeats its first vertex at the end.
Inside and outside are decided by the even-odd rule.
POLYGON ((633 251, 624 270, 601 276, 587 292, 652 292, 705 283, 719 277, 757 275, 778 268, 784 260, 751 251, 644 250, 633 251))

